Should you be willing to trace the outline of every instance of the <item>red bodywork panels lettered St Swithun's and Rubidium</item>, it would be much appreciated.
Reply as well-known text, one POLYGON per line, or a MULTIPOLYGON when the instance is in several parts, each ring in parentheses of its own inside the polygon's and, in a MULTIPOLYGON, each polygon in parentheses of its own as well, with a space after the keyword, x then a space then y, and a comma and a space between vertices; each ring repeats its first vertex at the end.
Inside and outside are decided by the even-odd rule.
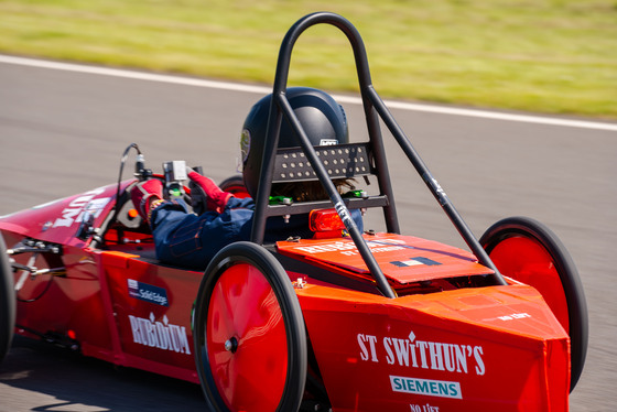
MULTIPOLYGON (((86 210, 95 216, 93 227, 104 226, 116 187, 0 218, 9 247, 24 238, 62 246, 61 257, 15 261, 65 267, 24 282, 17 333, 64 336, 86 356, 198 382, 192 316, 203 273, 160 263, 142 234, 105 248, 91 242, 91 234, 76 237, 86 210)), ((470 253, 435 241, 365 237, 399 297, 331 284, 313 273, 318 268, 375 283, 346 237, 281 241, 272 249, 306 263, 288 274, 302 280, 296 294, 335 411, 567 410, 570 340, 538 291, 510 281, 405 295, 410 285, 491 271, 470 253)), ((22 275, 17 272, 15 282, 22 275)))

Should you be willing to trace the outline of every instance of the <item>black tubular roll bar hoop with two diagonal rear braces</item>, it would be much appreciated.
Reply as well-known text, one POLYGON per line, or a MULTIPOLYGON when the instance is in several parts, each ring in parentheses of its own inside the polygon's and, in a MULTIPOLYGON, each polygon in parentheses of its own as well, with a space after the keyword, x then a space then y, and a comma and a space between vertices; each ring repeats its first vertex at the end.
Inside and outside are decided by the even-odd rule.
POLYGON ((354 240, 360 256, 362 257, 367 268, 375 278, 380 292, 388 297, 396 297, 397 294, 388 283, 383 272, 379 268, 379 264, 375 260, 368 245, 366 243, 362 235, 360 234, 358 227, 356 226, 354 219, 349 215, 349 210, 345 206, 340 195, 336 191, 333 182, 328 177, 327 171, 320 161, 315 149, 311 144, 302 124, 297 120, 289 100, 285 96, 286 84, 289 77, 289 67, 291 64, 291 53, 293 46, 299 39, 299 36, 308 28, 315 24, 332 24, 338 28, 351 45, 354 51, 354 56, 356 61, 356 69, 358 74, 358 82, 360 87, 360 95, 362 99, 362 105, 365 109, 365 117, 367 121, 367 128, 370 139, 370 147, 374 153, 374 160, 376 163, 376 169, 379 171, 377 173, 377 180, 379 184, 379 189, 381 195, 383 195, 389 202, 382 207, 383 217, 386 220, 387 229, 389 232, 400 234, 397 212, 394 207, 394 196, 392 192, 392 185, 390 182, 390 175, 388 172, 388 164, 386 161, 386 152, 383 149, 383 139, 381 135, 381 130, 379 127, 379 117, 382 118, 385 123, 388 126, 390 132, 394 135, 398 143, 401 145, 404 153, 408 155, 409 160, 415 166, 416 171, 420 173, 440 205, 444 208, 445 213, 458 229, 459 234, 463 236, 472 251, 476 254, 478 261, 495 271, 494 281, 496 284, 506 284, 504 278, 497 271, 497 268, 490 261, 488 254, 484 251, 477 239, 474 237, 472 231, 465 225, 454 206, 450 203, 450 199, 445 193, 441 189, 436 180, 431 175, 413 147, 402 132, 400 127, 394 121, 391 113, 386 108, 386 105, 381 98, 377 95, 372 87, 370 71, 368 67, 368 59, 366 55, 366 50, 360 34, 356 28, 345 18, 329 13, 329 12, 317 12, 308 14, 300 19, 286 33, 283 42, 281 44, 281 50, 279 52, 279 61, 277 64, 277 74, 274 77, 274 87, 272 91, 272 101, 270 106, 270 115, 268 119, 267 127, 267 139, 263 148, 263 162, 261 167, 261 173, 259 176, 259 187, 256 200, 256 212, 251 231, 251 240, 257 243, 263 242, 263 236, 266 231, 266 220, 269 216, 273 215, 269 210, 269 196, 272 186, 272 175, 274 170, 274 161, 277 155, 277 149, 279 144, 279 134, 281 130, 281 122, 283 116, 292 126, 295 131, 295 135, 299 140, 300 147, 304 151, 307 160, 313 165, 315 173, 326 189, 335 209, 340 216, 343 223, 351 239, 354 240))

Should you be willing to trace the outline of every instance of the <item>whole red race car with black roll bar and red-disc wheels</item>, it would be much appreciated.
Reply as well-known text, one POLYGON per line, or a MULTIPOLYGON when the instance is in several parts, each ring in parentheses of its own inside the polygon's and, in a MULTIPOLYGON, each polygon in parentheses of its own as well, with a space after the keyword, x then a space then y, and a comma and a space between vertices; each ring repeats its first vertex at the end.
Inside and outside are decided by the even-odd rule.
MULTIPOLYGON (((205 272, 156 260, 130 188, 170 170, 0 218, 0 360, 13 333, 199 383, 216 411, 566 411, 587 347, 581 281, 559 239, 508 218, 478 240, 375 91, 364 43, 344 18, 299 20, 279 54, 251 238, 205 272), (313 147, 285 97, 291 53, 331 24, 354 51, 369 139, 313 147), (277 149, 282 121, 297 147, 277 149), (402 235, 380 120, 470 251, 402 235), (338 194, 333 178, 372 183, 338 194), (270 202, 272 183, 320 181, 329 199, 270 202), (385 232, 353 209, 380 208, 385 232), (264 242, 268 219, 310 214, 308 238, 264 242), (429 409, 427 409, 429 408, 429 409)), ((122 166, 131 145, 125 152, 122 166)), ((172 167, 173 171, 173 167, 172 167)), ((221 183, 237 196, 242 181, 221 183)), ((194 192, 193 192, 194 193, 194 192)))

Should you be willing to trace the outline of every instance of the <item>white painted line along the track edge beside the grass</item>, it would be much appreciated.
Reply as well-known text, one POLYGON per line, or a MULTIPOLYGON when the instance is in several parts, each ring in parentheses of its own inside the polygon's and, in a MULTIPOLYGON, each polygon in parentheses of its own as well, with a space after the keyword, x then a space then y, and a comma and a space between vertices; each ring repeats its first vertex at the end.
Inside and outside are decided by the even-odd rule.
MULTIPOLYGON (((206 80, 201 78, 161 75, 161 74, 134 72, 134 71, 127 71, 127 69, 119 69, 119 68, 88 66, 88 65, 73 64, 73 63, 41 61, 35 58, 7 56, 1 54, 0 54, 0 63, 17 64, 22 66, 41 67, 41 68, 51 68, 56 71, 96 74, 96 75, 112 76, 112 77, 132 78, 138 80, 170 83, 170 84, 184 85, 184 86, 207 87, 207 88, 216 88, 216 89, 234 90, 234 91, 246 91, 246 93, 255 93, 260 95, 266 95, 272 91, 271 87, 264 87, 264 86, 243 85, 239 83, 229 83, 229 82, 214 82, 214 80, 206 80)), ((340 102, 347 102, 354 105, 361 104, 359 97, 338 96, 338 95, 335 95, 334 97, 336 100, 340 102)), ((497 111, 461 109, 461 108, 453 108, 453 107, 420 105, 420 104, 410 104, 410 102, 390 101, 390 100, 386 101, 386 105, 390 109, 425 111, 425 112, 442 113, 442 115, 477 117, 484 119, 617 131, 617 123, 561 119, 561 118, 551 118, 551 117, 541 117, 541 116, 513 115, 513 113, 505 113, 505 112, 497 112, 497 111)))

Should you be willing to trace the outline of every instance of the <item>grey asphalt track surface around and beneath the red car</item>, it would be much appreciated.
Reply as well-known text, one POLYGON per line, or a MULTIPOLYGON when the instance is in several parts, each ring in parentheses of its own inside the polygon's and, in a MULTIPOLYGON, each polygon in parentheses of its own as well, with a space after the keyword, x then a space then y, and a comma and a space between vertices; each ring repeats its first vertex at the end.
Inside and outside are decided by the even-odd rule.
MULTIPOLYGON (((374 82, 379 90, 379 79, 374 82)), ((151 167, 183 159, 220 181, 236 172, 238 135, 258 98, 241 89, 0 63, 0 215, 115 182, 131 142, 151 167)), ((353 140, 361 140, 360 107, 344 106, 353 140)), ((571 410, 615 410, 615 129, 392 112, 476 236, 497 219, 523 215, 546 224, 569 248, 591 324, 587 362, 571 410)), ((421 180, 388 142, 403 232, 462 246, 421 180)), ((369 216, 367 226, 381 229, 378 220, 369 216)), ((0 411, 136 410, 203 410, 202 394, 194 384, 118 370, 22 338, 0 366, 0 411)))

